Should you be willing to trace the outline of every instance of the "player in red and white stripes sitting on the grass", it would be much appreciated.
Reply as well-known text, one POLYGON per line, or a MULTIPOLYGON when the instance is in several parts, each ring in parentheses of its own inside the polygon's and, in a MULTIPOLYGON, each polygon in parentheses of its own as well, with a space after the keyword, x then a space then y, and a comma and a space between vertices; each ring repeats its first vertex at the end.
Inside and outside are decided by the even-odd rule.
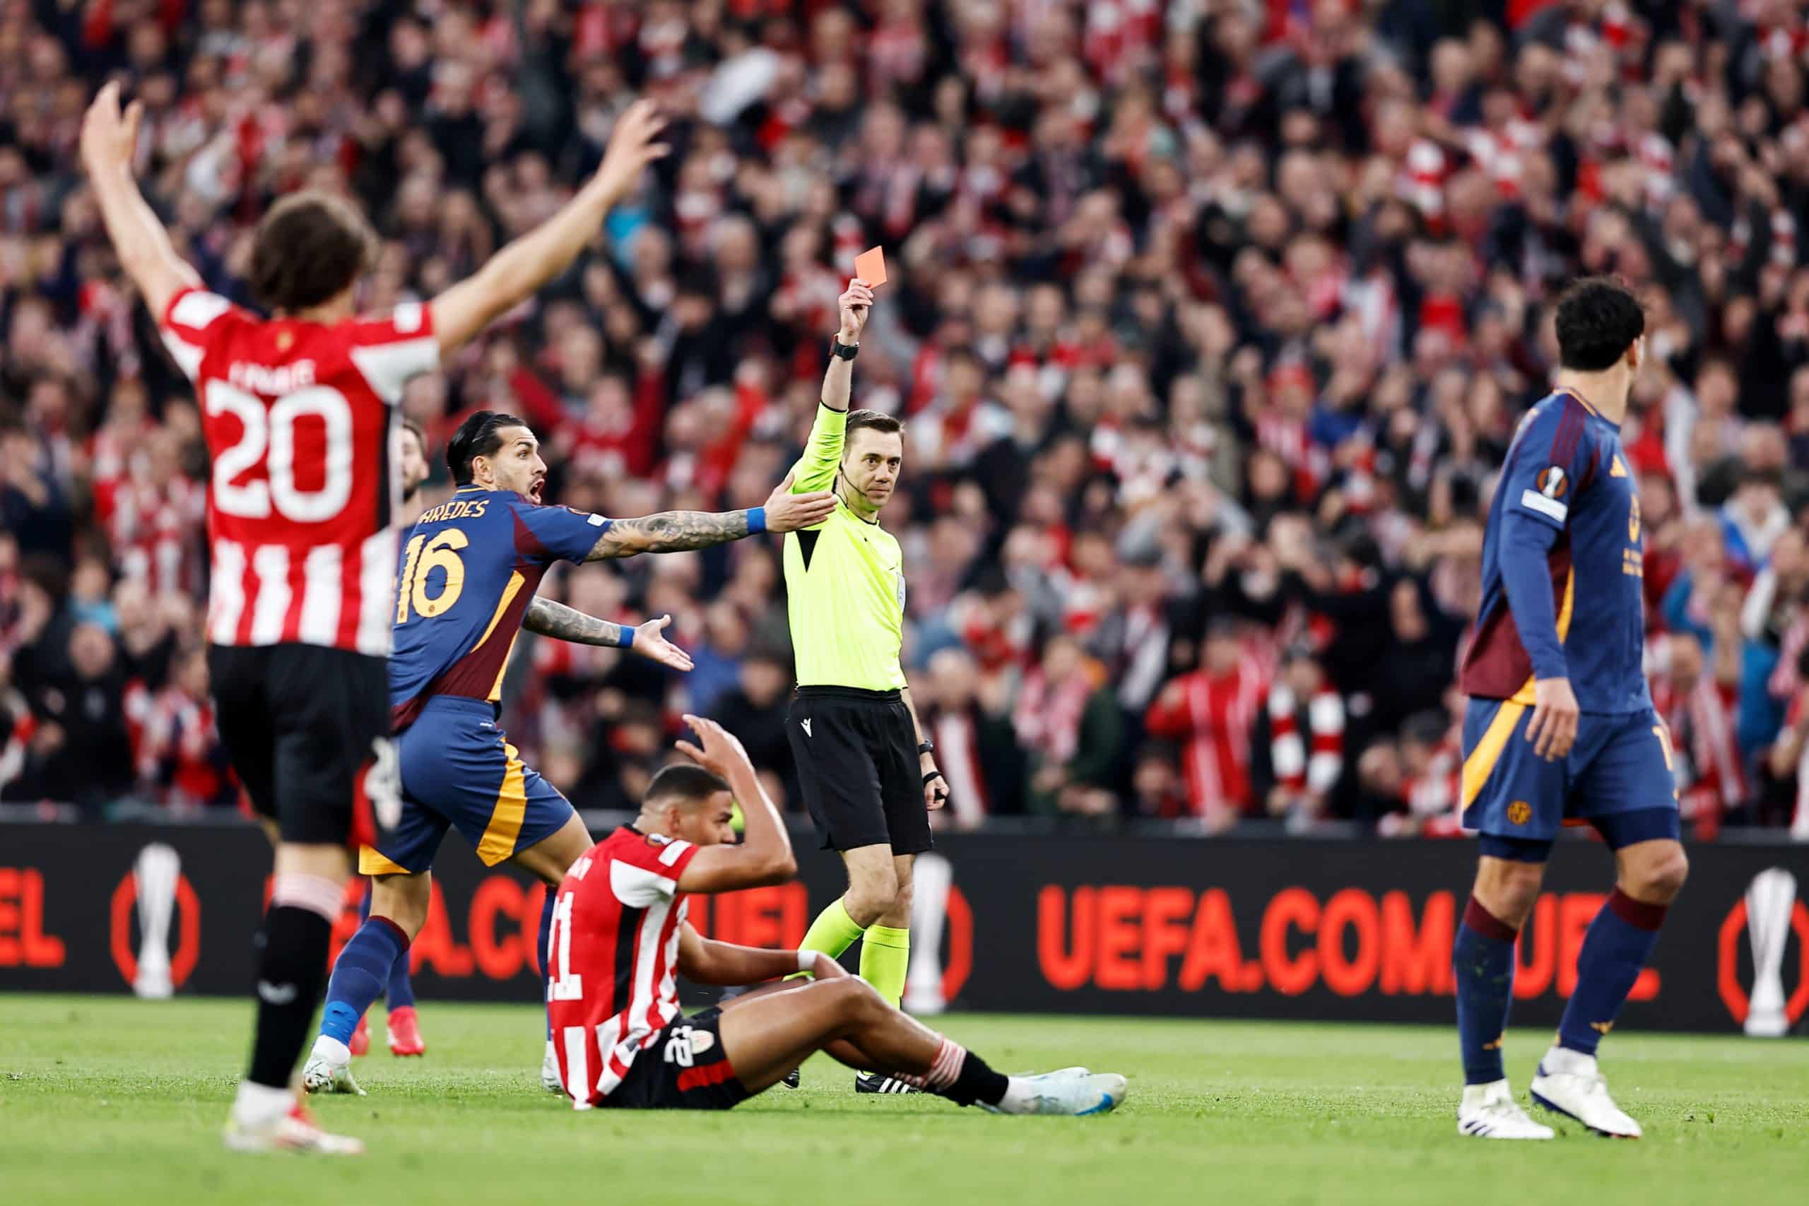
POLYGON ((686 716, 696 765, 653 776, 640 815, 615 830, 559 886, 548 942, 548 1013, 559 1079, 579 1110, 725 1110, 823 1051, 995 1114, 1103 1114, 1125 1078, 1087 1069, 1006 1076, 961 1043, 899 1013, 821 951, 765 951, 704 938, 686 897, 781 884, 791 839, 747 750, 722 725, 686 716), (734 801, 745 841, 731 844, 734 801), (673 975, 740 985, 809 971, 686 1018, 673 975))

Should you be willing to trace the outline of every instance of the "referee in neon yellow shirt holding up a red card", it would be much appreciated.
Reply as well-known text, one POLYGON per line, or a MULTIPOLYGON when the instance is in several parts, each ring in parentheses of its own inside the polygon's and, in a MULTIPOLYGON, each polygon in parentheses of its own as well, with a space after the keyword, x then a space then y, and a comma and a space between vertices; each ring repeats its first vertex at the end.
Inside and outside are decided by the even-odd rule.
MULTIPOLYGON (((834 490, 836 510, 785 537, 798 656, 785 732, 823 848, 848 870, 847 893, 810 924, 803 949, 836 958, 863 938, 861 978, 897 1007, 910 964, 912 859, 930 848, 928 810, 944 805, 948 785, 899 665, 904 570, 897 539, 879 526, 904 461, 904 429, 877 410, 848 412, 872 304, 865 280, 838 298, 841 331, 830 344, 823 405, 792 470, 794 492, 834 490)), ((903 1085, 863 1074, 856 1088, 903 1085)))

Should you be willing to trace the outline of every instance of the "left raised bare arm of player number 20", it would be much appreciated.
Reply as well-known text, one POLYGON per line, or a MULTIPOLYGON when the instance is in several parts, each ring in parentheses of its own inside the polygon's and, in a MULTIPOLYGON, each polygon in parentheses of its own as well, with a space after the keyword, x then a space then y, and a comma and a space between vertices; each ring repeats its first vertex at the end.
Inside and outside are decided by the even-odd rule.
POLYGON ((170 233, 145 203, 132 177, 137 123, 145 103, 132 101, 119 112, 119 85, 109 83, 81 119, 81 165, 87 168, 101 224, 119 255, 119 266, 137 286, 152 318, 163 315, 179 291, 199 286, 201 275, 175 253, 170 233))

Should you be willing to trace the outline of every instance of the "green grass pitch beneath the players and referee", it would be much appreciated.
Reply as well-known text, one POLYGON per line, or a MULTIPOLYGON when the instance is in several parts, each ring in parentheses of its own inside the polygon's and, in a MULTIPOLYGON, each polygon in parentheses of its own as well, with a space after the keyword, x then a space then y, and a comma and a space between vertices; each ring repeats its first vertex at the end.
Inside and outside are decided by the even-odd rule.
MULTIPOLYGON (((530 1005, 421 1003, 427 1058, 355 1063, 317 1103, 349 1161, 219 1145, 246 1002, 0 996, 0 1199, 40 1202, 1637 1202, 1802 1201, 1809 1043, 1614 1034, 1605 1070, 1641 1143, 1454 1134, 1435 1027, 948 1016, 997 1067, 1131 1078, 1107 1117, 995 1117, 856 1098, 825 1058, 801 1092, 729 1114, 575 1114, 539 1088, 530 1005)), ((1509 1036, 1525 1088, 1549 1032, 1509 1036)))

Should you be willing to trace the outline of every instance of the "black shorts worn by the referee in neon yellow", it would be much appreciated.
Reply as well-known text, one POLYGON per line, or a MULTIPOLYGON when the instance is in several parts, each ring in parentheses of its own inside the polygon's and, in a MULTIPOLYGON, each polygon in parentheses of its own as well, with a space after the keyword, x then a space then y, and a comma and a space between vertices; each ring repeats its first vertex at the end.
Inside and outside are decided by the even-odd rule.
POLYGON ((897 691, 798 687, 785 734, 823 850, 923 853, 933 844, 917 729, 897 691))

